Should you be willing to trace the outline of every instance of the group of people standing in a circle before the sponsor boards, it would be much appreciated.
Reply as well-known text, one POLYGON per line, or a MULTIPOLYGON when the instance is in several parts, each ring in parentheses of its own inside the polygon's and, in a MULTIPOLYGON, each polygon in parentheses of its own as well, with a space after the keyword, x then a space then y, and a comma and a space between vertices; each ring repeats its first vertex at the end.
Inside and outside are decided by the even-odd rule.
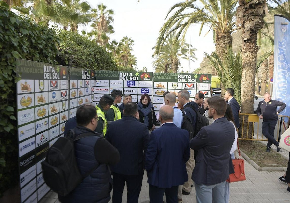
POLYGON ((75 141, 81 174, 97 168, 61 202, 108 202, 113 188, 113 203, 122 202, 127 186, 127 202, 138 202, 144 170, 147 172, 152 203, 181 203, 194 185, 198 203, 229 202, 229 183, 233 173, 232 158, 237 146, 240 107, 233 89, 226 89, 225 99, 204 99, 202 93, 190 101, 187 90, 164 93, 164 104, 157 119, 149 95, 138 104, 131 95, 113 90, 94 107, 85 104, 66 123, 65 132, 75 128, 76 135, 92 136, 75 141), (121 102, 123 103, 117 106, 121 102), (226 101, 227 100, 227 101, 226 101), (195 129, 197 113, 210 120, 193 139, 182 129, 183 112, 195 129), (235 113, 234 113, 235 112, 235 113), (225 130, 226 129, 226 130, 225 130), (113 180, 111 179, 113 175, 113 180))

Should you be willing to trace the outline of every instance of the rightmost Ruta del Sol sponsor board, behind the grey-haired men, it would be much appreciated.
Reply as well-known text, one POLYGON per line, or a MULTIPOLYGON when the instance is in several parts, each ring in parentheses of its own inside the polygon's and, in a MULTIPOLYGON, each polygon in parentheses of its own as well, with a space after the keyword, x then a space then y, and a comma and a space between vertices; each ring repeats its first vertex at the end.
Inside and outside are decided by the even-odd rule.
MULTIPOLYGON (((160 105, 164 103, 163 93, 173 92, 176 95, 180 90, 188 90, 190 100, 194 100, 195 94, 201 92, 204 97, 211 94, 210 74, 186 74, 186 73, 154 73, 153 75, 153 106, 157 115, 160 105)), ((159 121, 158 121, 159 122, 159 121)), ((160 125, 160 123, 159 123, 160 125)))

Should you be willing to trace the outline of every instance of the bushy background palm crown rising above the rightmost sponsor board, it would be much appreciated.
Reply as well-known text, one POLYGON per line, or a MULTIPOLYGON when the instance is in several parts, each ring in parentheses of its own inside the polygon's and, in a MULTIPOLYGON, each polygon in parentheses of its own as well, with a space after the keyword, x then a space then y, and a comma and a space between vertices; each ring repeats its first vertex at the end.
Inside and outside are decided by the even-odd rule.
MULTIPOLYGON (((163 43, 160 53, 154 54, 152 57, 156 57, 154 66, 159 66, 160 64, 166 65, 166 62, 169 63, 173 73, 177 73, 178 65, 180 65, 180 59, 196 59, 194 52, 195 48, 191 48, 190 53, 189 50, 185 46, 189 47, 189 44, 183 44, 182 39, 178 39, 175 41, 175 32, 172 32, 166 41, 163 43), (181 53, 180 53, 181 52, 181 53)), ((154 49, 155 47, 153 47, 154 49)), ((156 48, 155 48, 156 50, 156 48)), ((165 67, 164 67, 165 68, 165 67)), ((168 67, 167 67, 168 68, 168 67)))

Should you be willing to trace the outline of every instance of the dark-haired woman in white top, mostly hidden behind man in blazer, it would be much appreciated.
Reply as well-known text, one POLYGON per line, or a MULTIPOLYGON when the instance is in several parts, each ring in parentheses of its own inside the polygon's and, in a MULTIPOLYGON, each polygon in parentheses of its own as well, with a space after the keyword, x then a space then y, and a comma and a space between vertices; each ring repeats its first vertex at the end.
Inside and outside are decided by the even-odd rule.
MULTIPOLYGON (((235 128, 235 140, 234 140, 233 146, 232 146, 231 151, 230 151, 231 158, 235 159, 234 152, 237 149, 238 133, 237 133, 237 128, 235 127, 233 112, 232 112, 231 106, 229 104, 227 104, 227 106, 226 106, 226 113, 224 114, 224 116, 226 117, 226 119, 229 122, 231 122, 233 124, 233 127, 235 128)), ((228 203, 229 198, 230 198, 230 183, 226 182, 226 184, 224 186, 224 202, 228 203)))

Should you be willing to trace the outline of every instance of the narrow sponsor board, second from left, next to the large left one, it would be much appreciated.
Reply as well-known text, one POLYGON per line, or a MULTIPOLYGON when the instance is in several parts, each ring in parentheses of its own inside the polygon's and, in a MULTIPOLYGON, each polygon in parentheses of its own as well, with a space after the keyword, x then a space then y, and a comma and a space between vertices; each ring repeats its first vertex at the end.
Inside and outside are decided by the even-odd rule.
POLYGON ((95 70, 69 67, 69 118, 75 116, 77 106, 95 104, 95 70))

